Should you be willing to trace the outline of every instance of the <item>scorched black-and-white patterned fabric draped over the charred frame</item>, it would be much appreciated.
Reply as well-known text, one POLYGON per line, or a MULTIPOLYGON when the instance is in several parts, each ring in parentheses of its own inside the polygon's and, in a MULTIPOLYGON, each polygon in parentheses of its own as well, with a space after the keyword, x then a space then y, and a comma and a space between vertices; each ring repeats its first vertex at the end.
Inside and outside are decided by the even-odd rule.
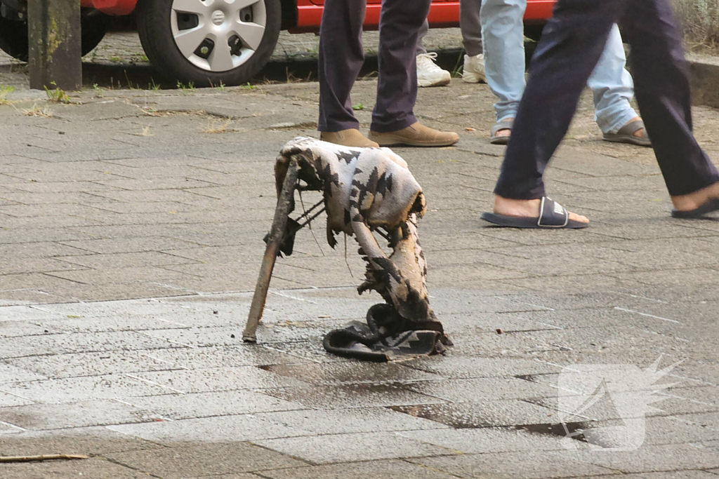
POLYGON ((324 196, 329 245, 336 246, 336 233, 354 236, 359 243, 359 254, 367 261, 359 294, 373 289, 387 303, 370 308, 366 325, 353 322, 329 332, 324 348, 367 361, 444 352, 451 342, 429 305, 417 234, 426 203, 407 163, 388 148, 349 148, 298 137, 285 144, 275 163, 278 195, 291 157, 298 160, 301 189, 324 196), (373 231, 388 238, 389 256, 373 231))

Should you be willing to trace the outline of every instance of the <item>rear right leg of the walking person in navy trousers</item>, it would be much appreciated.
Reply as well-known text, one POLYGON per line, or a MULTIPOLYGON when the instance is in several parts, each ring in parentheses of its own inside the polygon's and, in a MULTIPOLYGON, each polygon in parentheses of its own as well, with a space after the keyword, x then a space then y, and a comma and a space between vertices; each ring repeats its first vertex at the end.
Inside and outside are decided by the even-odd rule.
POLYGON ((636 98, 674 206, 719 197, 719 172, 692 134, 687 64, 667 0, 631 0, 623 18, 636 98))

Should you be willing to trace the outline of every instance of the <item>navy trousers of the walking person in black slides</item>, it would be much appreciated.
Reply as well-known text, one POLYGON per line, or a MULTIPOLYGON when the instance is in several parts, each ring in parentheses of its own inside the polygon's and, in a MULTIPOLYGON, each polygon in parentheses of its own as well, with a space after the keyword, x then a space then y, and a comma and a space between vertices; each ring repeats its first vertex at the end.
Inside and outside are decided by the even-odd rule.
POLYGON ((559 0, 529 67, 495 194, 544 196, 542 175, 569 129, 613 23, 631 46, 631 71, 646 131, 670 195, 719 181, 692 135, 687 65, 668 0, 559 0))

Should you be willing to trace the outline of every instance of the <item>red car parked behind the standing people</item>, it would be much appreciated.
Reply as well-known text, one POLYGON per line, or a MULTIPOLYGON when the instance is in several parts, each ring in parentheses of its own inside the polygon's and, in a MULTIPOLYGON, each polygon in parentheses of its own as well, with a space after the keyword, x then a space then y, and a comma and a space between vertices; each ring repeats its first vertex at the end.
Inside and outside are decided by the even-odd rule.
MULTIPOLYGON (((27 61, 27 0, 0 0, 0 49, 27 61)), ((324 0, 81 0, 83 55, 95 48, 110 15, 137 17, 142 47, 170 78, 197 86, 238 85, 270 59, 280 30, 319 31, 324 0), (216 48, 224 45, 224 48, 216 48)), ((536 38, 554 0, 527 0, 526 34, 536 38)), ((381 0, 367 0, 365 27, 376 29, 381 0)), ((459 26, 459 1, 434 0, 431 27, 459 26)), ((458 45, 459 46, 459 45, 458 45)))

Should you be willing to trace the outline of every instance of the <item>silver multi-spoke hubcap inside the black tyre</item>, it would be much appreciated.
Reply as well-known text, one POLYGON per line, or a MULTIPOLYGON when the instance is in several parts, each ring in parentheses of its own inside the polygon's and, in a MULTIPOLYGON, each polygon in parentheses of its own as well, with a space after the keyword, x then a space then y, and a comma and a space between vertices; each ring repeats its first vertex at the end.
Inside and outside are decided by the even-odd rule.
POLYGON ((173 0, 175 45, 193 65, 224 72, 255 53, 265 34, 264 0, 173 0))

